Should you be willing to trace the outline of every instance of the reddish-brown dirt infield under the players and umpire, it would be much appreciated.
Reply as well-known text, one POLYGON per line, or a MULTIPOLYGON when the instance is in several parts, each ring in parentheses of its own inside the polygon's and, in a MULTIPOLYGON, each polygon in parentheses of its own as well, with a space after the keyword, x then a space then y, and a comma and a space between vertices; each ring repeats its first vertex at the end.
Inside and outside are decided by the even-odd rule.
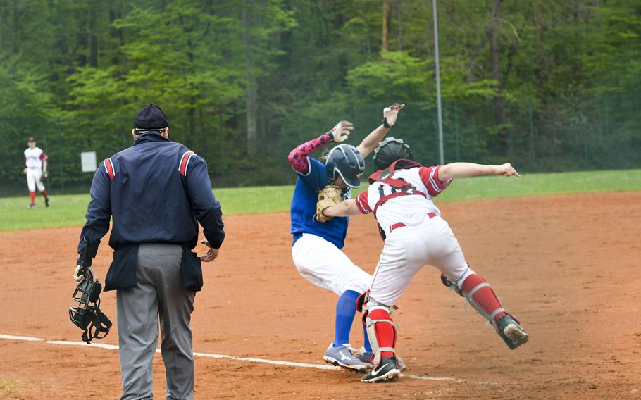
MULTIPOLYGON (((224 204, 223 204, 224 209, 224 204)), ((473 308, 421 270, 399 301, 399 382, 225 359, 196 360, 198 399, 641 399, 641 192, 470 201, 441 206, 472 267, 521 319, 510 351, 473 308), (455 380, 421 380, 418 377, 455 380)), ((301 278, 289 215, 225 218, 228 239, 204 268, 194 351, 323 363, 335 295, 301 278)), ((0 334, 80 340, 68 320, 79 228, 0 234, 0 334)), ((382 242, 351 220, 346 253, 373 271, 382 242)), ((106 240, 94 265, 104 277, 106 240)), ((102 296, 116 319, 115 296, 102 296)), ((106 339, 117 344, 114 329, 106 339)), ((361 345, 359 327, 352 344, 361 345)), ((164 371, 156 357, 156 398, 164 371)), ((0 339, 0 399, 116 399, 118 352, 0 339), (3 380, 15 389, 3 388, 3 380), (85 385, 91 384, 91 385, 85 385)))

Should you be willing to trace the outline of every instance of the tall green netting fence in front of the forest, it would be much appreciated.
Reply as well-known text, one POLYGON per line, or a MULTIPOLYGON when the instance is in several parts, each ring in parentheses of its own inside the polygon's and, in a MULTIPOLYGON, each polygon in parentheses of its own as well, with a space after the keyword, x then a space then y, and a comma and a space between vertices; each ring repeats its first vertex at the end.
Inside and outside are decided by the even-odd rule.
MULTIPOLYGON (((340 119, 354 122, 349 142, 358 144, 382 118, 385 104, 355 102, 297 108, 287 115, 263 108, 258 148, 248 157, 244 114, 220 113, 187 121, 170 115, 172 139, 185 143, 209 164, 213 185, 280 185, 294 182, 287 154, 297 144, 329 130, 340 119)), ((523 173, 641 168, 641 94, 612 94, 542 103, 506 103, 506 123, 497 125, 492 99, 444 101, 445 161, 502 163, 523 173)), ((439 160, 436 108, 407 104, 389 135, 408 142, 418 161, 439 160)), ((100 161, 130 146, 132 115, 92 118, 0 117, 0 194, 24 184, 27 138, 49 155, 52 192, 86 191, 92 173, 82 173, 80 153, 100 161)), ((368 159, 370 160, 370 159, 368 159)), ((368 162, 371 170, 371 162, 368 162)))

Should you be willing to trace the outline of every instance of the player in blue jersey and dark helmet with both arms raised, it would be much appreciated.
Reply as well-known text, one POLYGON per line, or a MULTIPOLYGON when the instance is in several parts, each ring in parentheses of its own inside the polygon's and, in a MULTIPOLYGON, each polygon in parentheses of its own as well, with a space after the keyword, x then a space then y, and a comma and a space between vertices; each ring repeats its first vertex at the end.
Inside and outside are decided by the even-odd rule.
POLYGON ((404 104, 393 104, 383 110, 383 123, 371 132, 359 146, 335 146, 323 163, 310 154, 330 142, 343 142, 354 129, 347 121, 321 137, 301 144, 290 152, 289 161, 299 175, 292 198, 291 218, 292 258, 299 273, 314 285, 329 289, 339 296, 336 304, 334 342, 323 359, 349 370, 364 372, 371 367, 371 347, 363 329, 363 349, 355 351, 349 345, 349 331, 356 315, 356 299, 366 292, 372 275, 351 262, 342 251, 347 236, 349 218, 340 217, 319 223, 316 218, 318 190, 333 184, 342 189, 343 199, 351 198, 351 188, 361 185, 368 156, 396 123, 404 104))

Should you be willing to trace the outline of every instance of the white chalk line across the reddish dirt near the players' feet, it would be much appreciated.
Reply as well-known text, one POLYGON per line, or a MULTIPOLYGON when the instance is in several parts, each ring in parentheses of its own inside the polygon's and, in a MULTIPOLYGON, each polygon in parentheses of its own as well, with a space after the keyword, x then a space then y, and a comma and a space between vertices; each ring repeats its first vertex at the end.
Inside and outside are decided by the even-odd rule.
MULTIPOLYGON (((37 343, 44 343, 44 344, 54 344, 59 346, 80 346, 80 347, 85 347, 85 349, 89 349, 91 347, 97 347, 98 349, 118 350, 118 346, 114 344, 103 344, 103 343, 95 343, 95 342, 92 344, 86 344, 85 342, 69 342, 67 340, 46 340, 40 337, 4 335, 1 333, 0 333, 0 339, 16 340, 20 342, 37 342, 37 343)), ((156 353, 161 354, 161 349, 156 349, 156 353)), ((328 364, 294 363, 291 361, 277 361, 277 360, 268 360, 266 358, 228 356, 225 354, 200 353, 197 351, 194 351, 194 356, 204 357, 204 358, 225 358, 228 360, 244 361, 247 363, 263 363, 263 364, 283 365, 287 367, 297 367, 297 368, 316 368, 318 370, 342 370, 342 368, 340 367, 335 367, 334 365, 328 365, 328 364)), ((447 382, 457 382, 457 383, 468 382, 466 380, 457 379, 455 377, 438 377, 438 376, 428 376, 428 375, 405 375, 405 374, 402 374, 402 376, 409 377, 411 379, 417 379, 417 380, 447 381, 447 382)))

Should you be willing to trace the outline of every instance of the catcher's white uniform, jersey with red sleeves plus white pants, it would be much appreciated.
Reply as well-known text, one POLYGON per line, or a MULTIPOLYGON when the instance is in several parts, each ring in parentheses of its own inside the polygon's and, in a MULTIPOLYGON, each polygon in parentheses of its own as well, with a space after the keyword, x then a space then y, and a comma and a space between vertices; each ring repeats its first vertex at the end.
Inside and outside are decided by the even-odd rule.
POLYGON ((398 190, 383 182, 373 182, 356 199, 356 206, 361 213, 375 211, 375 217, 386 235, 370 296, 387 306, 394 305, 413 276, 427 263, 438 268, 452 282, 473 273, 468 269, 452 229, 440 217, 439 209, 432 202, 432 198, 450 182, 438 179, 439 168, 416 167, 394 171, 392 178, 412 186, 407 195, 399 195, 378 204, 382 196, 398 190), (422 194, 411 194, 414 192, 422 194))

